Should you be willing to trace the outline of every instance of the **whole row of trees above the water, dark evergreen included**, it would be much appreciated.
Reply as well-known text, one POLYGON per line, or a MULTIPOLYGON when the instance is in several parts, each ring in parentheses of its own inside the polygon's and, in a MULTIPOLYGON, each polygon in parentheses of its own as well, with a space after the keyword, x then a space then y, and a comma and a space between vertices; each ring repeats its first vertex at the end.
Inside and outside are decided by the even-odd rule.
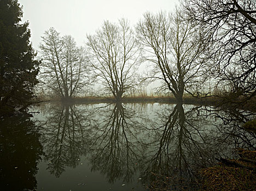
POLYGON ((102 87, 98 95, 110 94, 119 102, 142 80, 162 81, 158 91, 172 93, 178 102, 184 93, 218 92, 228 102, 255 96, 254 0, 183 0, 173 13, 145 13, 134 28, 126 19, 104 21, 86 36, 84 47, 50 28, 40 44, 41 64, 29 41, 28 23, 19 23, 18 1, 0 3, 1 110, 32 103, 39 65, 44 90, 63 100, 102 87), (142 63, 149 70, 143 77, 138 70, 142 63))

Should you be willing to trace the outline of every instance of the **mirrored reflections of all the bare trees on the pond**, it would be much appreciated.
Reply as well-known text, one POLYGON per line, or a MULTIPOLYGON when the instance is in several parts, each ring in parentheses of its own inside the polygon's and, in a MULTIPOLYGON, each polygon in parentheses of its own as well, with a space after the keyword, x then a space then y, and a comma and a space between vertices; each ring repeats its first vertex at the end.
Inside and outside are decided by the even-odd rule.
POLYGON ((198 169, 234 157, 234 148, 256 146, 255 133, 242 128, 254 115, 234 109, 117 103, 44 110, 40 140, 56 177, 84 157, 111 184, 150 183, 158 174, 170 177, 168 189, 194 189, 198 169))

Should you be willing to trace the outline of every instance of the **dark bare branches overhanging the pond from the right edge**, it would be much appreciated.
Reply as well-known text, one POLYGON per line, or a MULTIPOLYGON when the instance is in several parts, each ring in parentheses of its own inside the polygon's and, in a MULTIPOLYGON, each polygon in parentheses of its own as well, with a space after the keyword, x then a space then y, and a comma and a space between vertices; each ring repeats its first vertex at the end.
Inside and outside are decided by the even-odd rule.
POLYGON ((231 93, 231 100, 255 96, 255 0, 185 0, 184 10, 211 35, 214 65, 211 74, 231 93), (226 88, 228 87, 228 88, 226 88))

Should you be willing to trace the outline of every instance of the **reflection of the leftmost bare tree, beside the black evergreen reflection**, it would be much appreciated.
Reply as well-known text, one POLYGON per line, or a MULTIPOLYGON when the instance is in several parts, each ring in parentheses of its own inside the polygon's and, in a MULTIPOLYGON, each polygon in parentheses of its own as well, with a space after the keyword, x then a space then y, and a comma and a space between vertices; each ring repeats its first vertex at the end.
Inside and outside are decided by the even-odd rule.
POLYGON ((75 168, 86 153, 88 120, 86 112, 74 105, 54 105, 49 110, 42 142, 48 169, 59 177, 67 166, 75 168))

